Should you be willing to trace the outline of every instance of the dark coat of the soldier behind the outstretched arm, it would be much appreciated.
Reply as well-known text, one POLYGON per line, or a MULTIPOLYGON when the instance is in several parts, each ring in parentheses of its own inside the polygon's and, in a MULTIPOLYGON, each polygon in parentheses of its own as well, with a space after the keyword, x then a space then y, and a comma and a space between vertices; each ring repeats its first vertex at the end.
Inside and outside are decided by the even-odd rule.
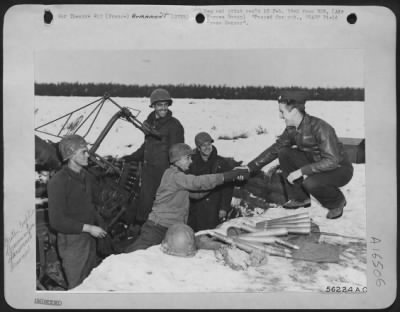
MULTIPOLYGON (((217 149, 213 146, 211 155, 207 161, 201 158, 197 151, 192 156, 192 164, 189 172, 193 175, 221 173, 233 169, 233 167, 219 156, 217 149)), ((189 209, 188 225, 195 231, 214 229, 219 224, 219 211, 227 213, 231 209, 233 194, 233 183, 225 183, 217 186, 201 199, 191 199, 189 209)))

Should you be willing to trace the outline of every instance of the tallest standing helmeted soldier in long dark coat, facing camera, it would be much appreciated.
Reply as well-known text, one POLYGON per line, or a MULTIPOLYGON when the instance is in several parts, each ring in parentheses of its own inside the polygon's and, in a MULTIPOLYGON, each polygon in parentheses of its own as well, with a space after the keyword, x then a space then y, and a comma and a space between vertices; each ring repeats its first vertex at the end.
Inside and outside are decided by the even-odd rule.
POLYGON ((139 224, 147 219, 153 205, 161 177, 168 168, 168 149, 175 143, 184 142, 184 129, 178 119, 172 116, 169 107, 172 99, 165 89, 155 89, 150 95, 150 107, 154 110, 145 123, 157 130, 161 137, 151 134, 145 136, 144 143, 131 155, 123 157, 126 161, 143 162, 142 185, 138 201, 129 214, 129 221, 139 224))

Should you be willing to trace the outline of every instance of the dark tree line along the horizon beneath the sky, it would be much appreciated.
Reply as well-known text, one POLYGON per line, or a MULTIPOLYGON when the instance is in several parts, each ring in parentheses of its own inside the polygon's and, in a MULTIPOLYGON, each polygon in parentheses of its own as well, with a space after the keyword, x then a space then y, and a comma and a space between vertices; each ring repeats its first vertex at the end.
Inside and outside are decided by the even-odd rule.
POLYGON ((364 88, 302 88, 273 86, 229 87, 198 84, 125 85, 115 83, 35 83, 35 95, 111 97, 149 97, 156 88, 167 89, 172 98, 276 100, 281 90, 306 90, 313 101, 364 101, 364 88))

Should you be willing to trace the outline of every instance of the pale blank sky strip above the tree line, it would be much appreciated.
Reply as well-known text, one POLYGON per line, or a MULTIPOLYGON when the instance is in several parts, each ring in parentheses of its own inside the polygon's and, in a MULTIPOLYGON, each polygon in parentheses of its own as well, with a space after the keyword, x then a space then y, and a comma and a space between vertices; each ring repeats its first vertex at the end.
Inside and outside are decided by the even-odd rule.
POLYGON ((51 51, 35 55, 35 82, 364 87, 351 49, 51 51))

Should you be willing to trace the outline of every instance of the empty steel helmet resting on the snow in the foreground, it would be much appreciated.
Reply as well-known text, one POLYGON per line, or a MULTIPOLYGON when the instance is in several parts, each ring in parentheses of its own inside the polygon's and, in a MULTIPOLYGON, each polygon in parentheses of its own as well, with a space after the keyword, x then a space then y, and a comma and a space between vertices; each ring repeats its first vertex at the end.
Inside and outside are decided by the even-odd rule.
POLYGON ((168 255, 193 257, 197 252, 194 231, 184 223, 170 226, 161 243, 161 250, 168 255))

